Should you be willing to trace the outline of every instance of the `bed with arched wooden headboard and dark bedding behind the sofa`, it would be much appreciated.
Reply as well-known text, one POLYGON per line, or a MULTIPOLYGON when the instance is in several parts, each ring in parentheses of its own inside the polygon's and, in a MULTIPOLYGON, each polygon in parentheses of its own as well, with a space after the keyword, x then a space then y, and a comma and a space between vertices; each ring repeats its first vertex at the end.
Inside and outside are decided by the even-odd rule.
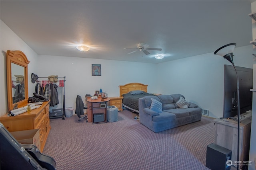
POLYGON ((123 97, 122 106, 127 109, 139 113, 139 98, 144 96, 155 96, 154 94, 148 93, 148 85, 141 83, 129 83, 125 85, 120 85, 120 97, 123 97), (131 91, 140 90, 143 91, 140 94, 131 94, 131 91))

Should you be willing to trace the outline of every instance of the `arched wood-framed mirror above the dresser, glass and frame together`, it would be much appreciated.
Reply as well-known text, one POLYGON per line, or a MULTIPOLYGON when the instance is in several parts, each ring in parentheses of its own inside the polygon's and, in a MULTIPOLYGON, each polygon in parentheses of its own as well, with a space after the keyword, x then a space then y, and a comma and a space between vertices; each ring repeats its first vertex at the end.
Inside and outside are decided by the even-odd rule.
POLYGON ((28 103, 28 61, 22 51, 6 53, 8 110, 28 103))

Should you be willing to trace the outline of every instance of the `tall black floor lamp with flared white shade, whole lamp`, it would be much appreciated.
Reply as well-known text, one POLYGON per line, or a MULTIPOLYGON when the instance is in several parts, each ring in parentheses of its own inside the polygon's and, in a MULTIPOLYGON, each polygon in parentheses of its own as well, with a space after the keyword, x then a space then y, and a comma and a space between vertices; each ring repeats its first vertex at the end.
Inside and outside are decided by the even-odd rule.
POLYGON ((237 161, 238 161, 238 164, 237 164, 237 170, 239 170, 239 133, 240 133, 240 99, 239 99, 239 79, 238 79, 238 73, 237 73, 237 70, 236 70, 236 66, 234 65, 234 62, 233 62, 233 51, 234 51, 234 48, 236 47, 236 43, 230 43, 230 44, 227 44, 227 45, 224 45, 222 47, 220 47, 219 49, 217 49, 214 54, 215 55, 220 55, 222 57, 224 57, 224 59, 227 59, 233 66, 234 66, 234 69, 236 71, 236 91, 237 91, 237 122, 238 122, 238 125, 237 125, 237 161))

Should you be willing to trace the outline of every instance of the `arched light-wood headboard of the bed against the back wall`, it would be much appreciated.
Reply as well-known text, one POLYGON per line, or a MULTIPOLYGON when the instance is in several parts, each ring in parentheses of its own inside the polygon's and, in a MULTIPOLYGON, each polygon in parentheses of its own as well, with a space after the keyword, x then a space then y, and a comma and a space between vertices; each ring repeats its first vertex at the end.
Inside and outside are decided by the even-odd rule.
POLYGON ((148 85, 141 84, 141 83, 129 83, 125 85, 120 85, 120 97, 122 97, 122 94, 126 94, 133 90, 141 90, 144 92, 148 92, 148 85))

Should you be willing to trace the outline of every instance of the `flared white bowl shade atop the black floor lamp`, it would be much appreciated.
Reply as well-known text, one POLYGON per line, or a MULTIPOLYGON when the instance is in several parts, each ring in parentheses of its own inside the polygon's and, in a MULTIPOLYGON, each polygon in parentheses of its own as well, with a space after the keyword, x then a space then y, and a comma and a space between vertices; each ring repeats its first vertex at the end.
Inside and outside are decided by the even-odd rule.
POLYGON ((233 63, 233 56, 234 56, 233 51, 235 47, 236 47, 236 43, 230 43, 217 49, 214 52, 214 54, 224 57, 225 59, 230 61, 230 63, 233 63))

